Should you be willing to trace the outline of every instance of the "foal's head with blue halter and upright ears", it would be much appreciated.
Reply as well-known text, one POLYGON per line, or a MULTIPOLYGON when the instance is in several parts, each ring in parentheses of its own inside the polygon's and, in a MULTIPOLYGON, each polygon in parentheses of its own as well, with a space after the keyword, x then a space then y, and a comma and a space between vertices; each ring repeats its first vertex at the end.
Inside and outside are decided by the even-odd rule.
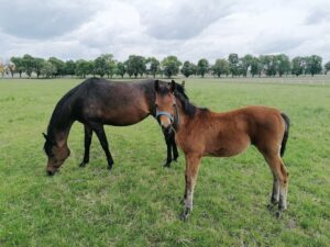
POLYGON ((158 80, 155 80, 155 91, 156 91, 156 117, 162 126, 162 130, 165 134, 169 134, 173 128, 176 114, 176 101, 174 91, 176 83, 172 80, 170 83, 160 83, 158 80))

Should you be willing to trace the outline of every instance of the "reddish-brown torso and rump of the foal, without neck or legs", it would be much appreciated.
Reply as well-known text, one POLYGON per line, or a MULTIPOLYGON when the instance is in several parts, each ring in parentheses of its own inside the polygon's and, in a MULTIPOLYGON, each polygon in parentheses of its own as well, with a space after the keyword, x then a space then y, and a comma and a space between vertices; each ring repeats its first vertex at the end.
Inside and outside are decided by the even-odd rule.
POLYGON ((251 144, 258 149, 279 148, 285 131, 278 110, 258 105, 202 113, 200 121, 205 123, 200 133, 204 135, 204 154, 218 157, 238 155, 251 144))

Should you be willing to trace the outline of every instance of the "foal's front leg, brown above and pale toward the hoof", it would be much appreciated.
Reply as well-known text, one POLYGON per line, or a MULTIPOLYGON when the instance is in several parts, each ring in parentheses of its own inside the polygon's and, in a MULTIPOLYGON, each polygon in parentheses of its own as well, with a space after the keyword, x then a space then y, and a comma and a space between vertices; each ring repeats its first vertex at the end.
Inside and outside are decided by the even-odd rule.
POLYGON ((197 175, 200 164, 200 156, 186 155, 186 188, 184 194, 185 209, 180 214, 180 220, 186 221, 193 211, 194 189, 197 181, 197 175))

